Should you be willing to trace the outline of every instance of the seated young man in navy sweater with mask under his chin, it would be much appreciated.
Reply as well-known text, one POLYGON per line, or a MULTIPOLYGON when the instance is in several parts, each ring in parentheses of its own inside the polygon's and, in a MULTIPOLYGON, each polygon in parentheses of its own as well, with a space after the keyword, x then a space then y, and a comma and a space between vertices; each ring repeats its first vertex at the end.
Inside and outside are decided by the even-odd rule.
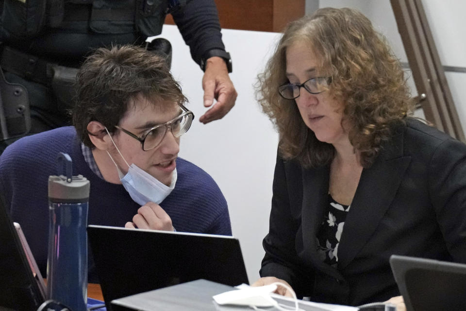
MULTIPOLYGON (((139 47, 99 49, 77 75, 74 127, 22 138, 0 157, 0 191, 45 275, 48 176, 69 154, 90 180, 88 224, 231 235, 214 180, 178 157, 194 115, 164 59, 139 47)), ((89 282, 96 282, 89 258, 89 282)))

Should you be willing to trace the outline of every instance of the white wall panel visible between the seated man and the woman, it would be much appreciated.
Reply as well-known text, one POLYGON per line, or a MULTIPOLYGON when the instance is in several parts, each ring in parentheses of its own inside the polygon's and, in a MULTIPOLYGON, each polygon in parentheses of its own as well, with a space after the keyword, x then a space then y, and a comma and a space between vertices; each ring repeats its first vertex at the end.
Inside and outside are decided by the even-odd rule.
POLYGON ((227 199, 233 236, 239 239, 250 282, 259 278, 264 256, 262 239, 268 231, 272 179, 278 135, 254 99, 252 85, 263 69, 279 34, 223 29, 223 41, 233 59, 230 78, 238 92, 233 109, 206 125, 203 72, 191 59, 176 26, 165 25, 161 36, 173 48, 172 73, 181 82, 189 109, 196 116, 181 138, 180 156, 209 173, 227 199))

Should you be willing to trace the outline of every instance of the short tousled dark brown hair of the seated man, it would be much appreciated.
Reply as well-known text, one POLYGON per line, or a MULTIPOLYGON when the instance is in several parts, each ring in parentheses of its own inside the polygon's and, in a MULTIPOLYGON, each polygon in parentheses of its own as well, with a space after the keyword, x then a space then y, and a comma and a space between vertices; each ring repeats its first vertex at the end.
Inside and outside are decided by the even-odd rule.
POLYGON ((187 102, 165 58, 132 45, 100 48, 87 57, 78 71, 76 90, 73 125, 90 148, 94 145, 87 131, 89 122, 98 121, 114 133, 137 96, 161 109, 167 102, 187 102))

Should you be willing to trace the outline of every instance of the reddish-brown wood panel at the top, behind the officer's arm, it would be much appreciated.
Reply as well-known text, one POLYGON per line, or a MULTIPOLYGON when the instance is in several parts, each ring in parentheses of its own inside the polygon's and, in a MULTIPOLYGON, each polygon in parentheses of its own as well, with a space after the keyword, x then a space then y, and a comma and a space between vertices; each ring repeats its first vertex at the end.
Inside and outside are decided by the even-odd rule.
MULTIPOLYGON (((305 0, 216 0, 220 26, 267 32, 281 32, 289 21, 304 16, 305 0)), ((173 25, 168 15, 166 24, 173 25)))

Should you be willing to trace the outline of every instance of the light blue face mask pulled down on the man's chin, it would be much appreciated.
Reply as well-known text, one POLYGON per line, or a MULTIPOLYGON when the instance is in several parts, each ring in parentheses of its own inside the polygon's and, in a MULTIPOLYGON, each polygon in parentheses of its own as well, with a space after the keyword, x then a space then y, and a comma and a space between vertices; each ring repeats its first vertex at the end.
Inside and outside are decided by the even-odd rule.
MULTIPOLYGON (((105 128, 105 130, 107 129, 105 128)), ((108 135, 110 136, 110 133, 108 133, 108 135)), ((125 161, 126 165, 128 165, 128 173, 123 174, 116 165, 112 156, 108 153, 108 151, 107 154, 108 156, 110 156, 110 159, 112 159, 112 162, 116 166, 116 170, 118 172, 118 176, 120 177, 121 184, 126 189, 126 191, 128 191, 133 201, 143 206, 148 202, 160 204, 163 200, 165 200, 165 198, 175 188, 176 179, 178 177, 176 169, 172 173, 170 186, 166 186, 164 183, 160 182, 157 178, 142 170, 134 163, 129 165, 128 162, 126 162, 123 155, 121 155, 120 151, 118 150, 118 147, 116 147, 116 144, 113 141, 112 136, 110 136, 110 139, 112 140, 116 148, 116 151, 118 151, 121 158, 123 158, 123 161, 125 161)))

